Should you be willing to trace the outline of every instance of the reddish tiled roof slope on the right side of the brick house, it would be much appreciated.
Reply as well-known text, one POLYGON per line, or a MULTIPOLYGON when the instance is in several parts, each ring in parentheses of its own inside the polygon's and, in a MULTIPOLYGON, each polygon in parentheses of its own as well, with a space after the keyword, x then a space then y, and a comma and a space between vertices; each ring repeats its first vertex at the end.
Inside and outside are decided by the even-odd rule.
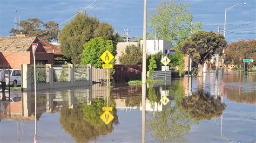
POLYGON ((45 41, 43 39, 38 38, 38 40, 44 47, 44 50, 46 53, 52 53, 53 55, 62 55, 62 52, 60 52, 59 46, 50 44, 50 42, 45 41))

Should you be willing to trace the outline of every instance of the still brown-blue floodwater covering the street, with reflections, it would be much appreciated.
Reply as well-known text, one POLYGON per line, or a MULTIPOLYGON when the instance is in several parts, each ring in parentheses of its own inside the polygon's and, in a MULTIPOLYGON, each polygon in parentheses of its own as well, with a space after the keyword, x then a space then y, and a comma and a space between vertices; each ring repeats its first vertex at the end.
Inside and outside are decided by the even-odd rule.
MULTIPOLYGON (((99 84, 70 89, 39 90, 38 142, 255 142, 256 74, 225 71, 184 77, 142 87, 99 84), (102 106, 113 107, 108 125, 102 106), (167 95, 166 105, 161 98, 167 95), (142 111, 146 111, 145 123, 142 111), (145 125, 145 131, 142 130, 145 125)), ((35 96, 11 91, 1 95, 0 142, 33 142, 35 96)))

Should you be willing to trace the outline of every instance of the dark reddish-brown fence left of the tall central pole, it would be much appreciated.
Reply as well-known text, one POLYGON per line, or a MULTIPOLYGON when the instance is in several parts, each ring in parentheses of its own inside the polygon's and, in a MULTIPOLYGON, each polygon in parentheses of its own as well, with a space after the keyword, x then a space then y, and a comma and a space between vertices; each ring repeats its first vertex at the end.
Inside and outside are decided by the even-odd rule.
POLYGON ((116 72, 114 73, 113 78, 117 83, 139 80, 142 78, 142 65, 114 65, 114 69, 116 72))

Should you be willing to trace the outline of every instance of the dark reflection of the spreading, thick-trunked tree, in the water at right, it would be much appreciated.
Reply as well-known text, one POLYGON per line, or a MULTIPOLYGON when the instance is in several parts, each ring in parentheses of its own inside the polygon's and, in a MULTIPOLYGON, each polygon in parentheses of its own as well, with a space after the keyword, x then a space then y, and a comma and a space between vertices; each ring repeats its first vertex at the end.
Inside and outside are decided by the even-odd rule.
POLYGON ((220 97, 214 99, 213 96, 203 94, 202 91, 198 95, 183 98, 178 106, 197 121, 219 117, 226 108, 226 104, 221 103, 220 97))

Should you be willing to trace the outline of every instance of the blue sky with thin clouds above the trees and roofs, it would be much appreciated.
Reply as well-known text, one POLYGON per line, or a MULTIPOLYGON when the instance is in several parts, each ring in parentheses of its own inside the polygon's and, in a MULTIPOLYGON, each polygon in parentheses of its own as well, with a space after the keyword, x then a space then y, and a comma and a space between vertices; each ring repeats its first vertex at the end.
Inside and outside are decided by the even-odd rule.
MULTIPOLYGON (((152 12, 160 1, 147 0, 147 12, 152 12)), ((0 36, 8 36, 9 30, 14 27, 16 13, 12 10, 17 10, 18 17, 22 20, 37 17, 44 23, 50 20, 62 23, 92 2, 92 0, 0 0, 0 36)), ((91 11, 100 2, 102 0, 97 0, 86 11, 91 11)), ((203 30, 207 31, 217 31, 218 25, 224 28, 225 8, 246 2, 246 5, 235 6, 227 12, 227 30, 248 22, 254 23, 231 30, 242 34, 227 32, 226 40, 231 42, 239 39, 256 39, 256 34, 248 34, 256 33, 255 0, 184 0, 183 2, 190 3, 188 10, 191 11, 194 22, 202 22, 203 30)), ((110 23, 120 34, 124 28, 129 28, 132 30, 131 36, 143 35, 143 0, 104 0, 91 11, 90 15, 97 16, 102 22, 110 23)))

